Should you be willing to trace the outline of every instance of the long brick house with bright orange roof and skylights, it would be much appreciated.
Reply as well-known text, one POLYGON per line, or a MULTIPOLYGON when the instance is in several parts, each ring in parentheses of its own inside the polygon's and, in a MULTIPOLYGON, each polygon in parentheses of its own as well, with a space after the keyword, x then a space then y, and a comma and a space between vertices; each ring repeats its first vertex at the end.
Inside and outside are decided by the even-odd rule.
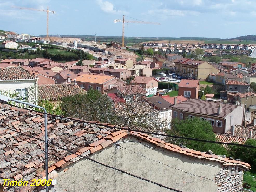
POLYGON ((79 87, 84 90, 95 89, 104 93, 106 89, 112 87, 122 87, 126 85, 126 82, 112 76, 84 74, 72 79, 79 87))

